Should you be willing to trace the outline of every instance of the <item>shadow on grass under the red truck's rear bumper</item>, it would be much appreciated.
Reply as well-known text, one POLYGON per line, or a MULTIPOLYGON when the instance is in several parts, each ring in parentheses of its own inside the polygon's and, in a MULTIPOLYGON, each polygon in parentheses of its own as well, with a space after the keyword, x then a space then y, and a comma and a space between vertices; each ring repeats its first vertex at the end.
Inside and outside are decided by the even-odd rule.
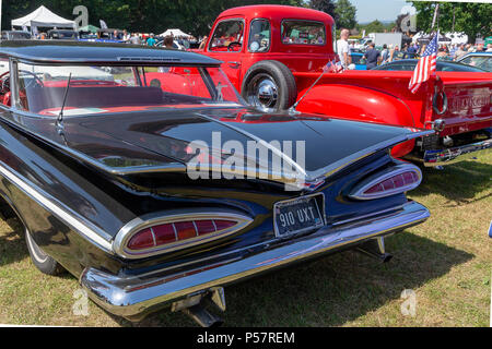
POLYGON ((443 170, 423 168, 422 184, 411 192, 418 200, 420 196, 438 194, 446 197, 447 207, 470 204, 491 196, 484 194, 477 197, 477 193, 487 191, 491 186, 492 165, 478 161, 462 161, 446 166, 443 170))

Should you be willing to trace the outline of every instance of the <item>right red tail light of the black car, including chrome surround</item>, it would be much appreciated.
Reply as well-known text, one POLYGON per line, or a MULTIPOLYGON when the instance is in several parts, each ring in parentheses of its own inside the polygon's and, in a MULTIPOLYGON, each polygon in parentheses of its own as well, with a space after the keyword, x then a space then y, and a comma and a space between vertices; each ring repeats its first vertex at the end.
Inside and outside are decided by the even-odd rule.
POLYGON ((358 200, 379 198, 415 189, 421 181, 422 172, 417 166, 398 165, 364 180, 349 196, 358 200))

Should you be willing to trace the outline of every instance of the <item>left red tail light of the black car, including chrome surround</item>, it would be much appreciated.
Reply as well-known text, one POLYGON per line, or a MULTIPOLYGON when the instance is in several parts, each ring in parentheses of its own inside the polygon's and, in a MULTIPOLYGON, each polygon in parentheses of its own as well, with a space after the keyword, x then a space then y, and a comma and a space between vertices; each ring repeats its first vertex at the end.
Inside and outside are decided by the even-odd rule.
POLYGON ((183 249, 234 233, 253 219, 243 215, 183 214, 124 227, 114 242, 115 252, 126 257, 142 257, 183 249))

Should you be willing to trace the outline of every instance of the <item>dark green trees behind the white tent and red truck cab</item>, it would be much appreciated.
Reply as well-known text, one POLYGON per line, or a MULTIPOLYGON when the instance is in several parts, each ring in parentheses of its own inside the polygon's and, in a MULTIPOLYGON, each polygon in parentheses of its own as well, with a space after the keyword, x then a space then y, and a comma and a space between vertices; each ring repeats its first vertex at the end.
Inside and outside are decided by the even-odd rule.
POLYGON ((44 4, 58 15, 74 19, 73 8, 89 10, 89 23, 129 32, 162 33, 178 27, 196 36, 208 35, 215 17, 224 10, 260 3, 303 5, 303 0, 22 0, 3 1, 2 29, 10 21, 24 16, 44 4))

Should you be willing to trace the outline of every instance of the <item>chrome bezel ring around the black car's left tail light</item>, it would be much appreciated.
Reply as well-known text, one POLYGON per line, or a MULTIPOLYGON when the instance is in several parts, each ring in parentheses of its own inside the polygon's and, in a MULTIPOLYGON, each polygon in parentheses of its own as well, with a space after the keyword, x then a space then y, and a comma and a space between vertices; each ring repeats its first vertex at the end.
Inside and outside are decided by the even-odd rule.
POLYGON ((231 236, 245 227, 247 227, 254 219, 238 213, 232 212, 219 212, 219 210, 191 210, 184 213, 161 213, 159 215, 142 216, 130 220, 116 234, 113 241, 113 251, 125 258, 143 258, 149 256, 159 255, 162 253, 173 252, 186 248, 190 248, 200 243, 210 242, 216 239, 221 239, 231 236), (142 231, 143 229, 151 228, 159 225, 189 221, 189 220, 235 220, 237 225, 222 229, 220 231, 210 232, 203 236, 197 236, 186 240, 171 242, 164 245, 151 246, 142 250, 131 250, 128 248, 130 239, 142 231))

